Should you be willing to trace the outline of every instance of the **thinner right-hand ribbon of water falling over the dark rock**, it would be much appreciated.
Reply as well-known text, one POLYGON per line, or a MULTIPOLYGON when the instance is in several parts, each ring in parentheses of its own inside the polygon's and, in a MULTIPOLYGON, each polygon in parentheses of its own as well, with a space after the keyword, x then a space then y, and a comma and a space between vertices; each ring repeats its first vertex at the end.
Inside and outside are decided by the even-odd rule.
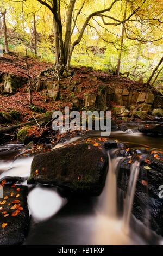
POLYGON ((139 170, 140 170, 140 161, 135 160, 131 166, 127 194, 126 194, 126 199, 124 203, 122 229, 127 234, 129 233, 129 229, 130 229, 129 226, 130 226, 131 212, 133 208, 135 188, 136 188, 137 178, 139 176, 139 170))

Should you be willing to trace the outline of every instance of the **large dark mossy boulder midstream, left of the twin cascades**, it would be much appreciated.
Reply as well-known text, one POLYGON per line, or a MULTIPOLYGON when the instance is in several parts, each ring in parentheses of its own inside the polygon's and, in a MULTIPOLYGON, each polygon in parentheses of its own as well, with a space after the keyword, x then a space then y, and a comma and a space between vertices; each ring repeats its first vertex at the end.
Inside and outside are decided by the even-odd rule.
POLYGON ((87 139, 35 156, 28 182, 97 196, 104 187, 107 166, 103 143, 87 139))

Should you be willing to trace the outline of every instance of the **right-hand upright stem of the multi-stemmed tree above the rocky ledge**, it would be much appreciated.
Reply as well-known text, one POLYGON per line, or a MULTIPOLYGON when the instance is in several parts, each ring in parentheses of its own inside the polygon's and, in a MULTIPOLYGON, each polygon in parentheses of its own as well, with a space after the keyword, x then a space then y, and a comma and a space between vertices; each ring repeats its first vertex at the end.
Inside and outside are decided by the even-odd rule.
POLYGON ((65 44, 64 44, 64 54, 65 54, 65 63, 66 64, 67 64, 67 60, 68 60, 68 54, 70 51, 72 13, 73 13, 75 3, 76 3, 76 0, 70 0, 70 3, 68 5, 65 44))

